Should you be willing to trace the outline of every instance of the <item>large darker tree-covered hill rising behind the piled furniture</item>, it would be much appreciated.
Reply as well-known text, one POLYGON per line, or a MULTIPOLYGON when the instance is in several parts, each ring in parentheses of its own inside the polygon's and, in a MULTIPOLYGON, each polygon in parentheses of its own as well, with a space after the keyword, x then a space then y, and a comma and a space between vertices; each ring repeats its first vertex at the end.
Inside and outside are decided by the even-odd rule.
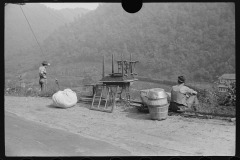
MULTIPOLYGON (((140 63, 140 76, 211 81, 235 73, 234 3, 144 3, 136 14, 121 4, 101 4, 55 30, 41 44, 24 51, 36 69, 43 59, 54 65, 110 60, 113 53, 140 63), (36 58, 38 56, 38 58, 36 58), (41 58, 39 58, 39 56, 41 58)), ((32 66, 31 66, 32 65, 32 66)), ((100 68, 101 69, 101 68, 100 68)), ((9 70, 10 71, 10 70, 9 70)))

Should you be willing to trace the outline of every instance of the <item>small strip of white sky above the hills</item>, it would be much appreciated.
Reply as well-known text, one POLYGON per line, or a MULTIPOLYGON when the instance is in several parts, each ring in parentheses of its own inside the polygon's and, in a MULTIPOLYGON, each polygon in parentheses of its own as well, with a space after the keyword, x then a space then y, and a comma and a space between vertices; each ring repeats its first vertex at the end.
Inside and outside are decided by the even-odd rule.
POLYGON ((98 3, 41 3, 46 5, 47 7, 51 7, 54 9, 63 9, 63 8, 86 8, 90 10, 94 10, 98 7, 98 3))

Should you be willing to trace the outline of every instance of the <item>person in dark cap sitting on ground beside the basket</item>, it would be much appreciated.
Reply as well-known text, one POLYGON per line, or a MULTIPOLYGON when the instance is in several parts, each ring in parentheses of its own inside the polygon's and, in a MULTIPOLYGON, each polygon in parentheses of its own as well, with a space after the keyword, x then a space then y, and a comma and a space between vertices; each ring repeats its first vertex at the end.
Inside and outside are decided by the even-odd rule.
POLYGON ((197 92, 185 86, 184 76, 178 77, 178 84, 172 87, 169 110, 174 112, 184 112, 194 109, 199 104, 197 92))

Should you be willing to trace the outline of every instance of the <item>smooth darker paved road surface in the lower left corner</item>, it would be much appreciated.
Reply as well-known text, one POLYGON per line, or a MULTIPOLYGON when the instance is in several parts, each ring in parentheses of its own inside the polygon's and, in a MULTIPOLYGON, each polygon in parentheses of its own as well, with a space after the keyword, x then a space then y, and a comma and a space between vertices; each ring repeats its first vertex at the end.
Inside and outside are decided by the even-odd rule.
POLYGON ((130 156, 104 141, 55 129, 5 112, 6 156, 130 156))

